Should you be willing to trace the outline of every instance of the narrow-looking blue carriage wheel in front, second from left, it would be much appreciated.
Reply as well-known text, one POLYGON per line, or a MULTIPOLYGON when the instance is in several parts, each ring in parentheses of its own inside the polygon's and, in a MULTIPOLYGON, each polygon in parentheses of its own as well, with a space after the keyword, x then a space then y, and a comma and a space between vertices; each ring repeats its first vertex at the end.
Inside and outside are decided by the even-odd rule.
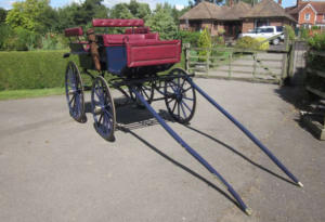
POLYGON ((109 88, 101 76, 93 81, 91 89, 91 107, 94 126, 102 138, 114 141, 115 132, 115 106, 109 88))

